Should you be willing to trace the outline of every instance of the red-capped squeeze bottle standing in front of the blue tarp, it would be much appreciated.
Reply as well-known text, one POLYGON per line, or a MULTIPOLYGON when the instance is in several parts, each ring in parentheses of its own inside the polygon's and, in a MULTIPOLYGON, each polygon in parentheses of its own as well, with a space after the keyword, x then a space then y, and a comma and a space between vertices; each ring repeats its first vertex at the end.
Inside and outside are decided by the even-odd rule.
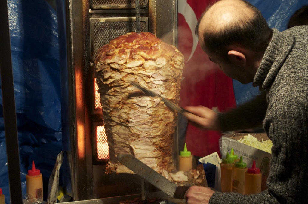
POLYGON ((43 176, 39 169, 35 168, 34 161, 32 169, 29 169, 26 175, 26 184, 29 198, 34 202, 43 202, 43 176))

